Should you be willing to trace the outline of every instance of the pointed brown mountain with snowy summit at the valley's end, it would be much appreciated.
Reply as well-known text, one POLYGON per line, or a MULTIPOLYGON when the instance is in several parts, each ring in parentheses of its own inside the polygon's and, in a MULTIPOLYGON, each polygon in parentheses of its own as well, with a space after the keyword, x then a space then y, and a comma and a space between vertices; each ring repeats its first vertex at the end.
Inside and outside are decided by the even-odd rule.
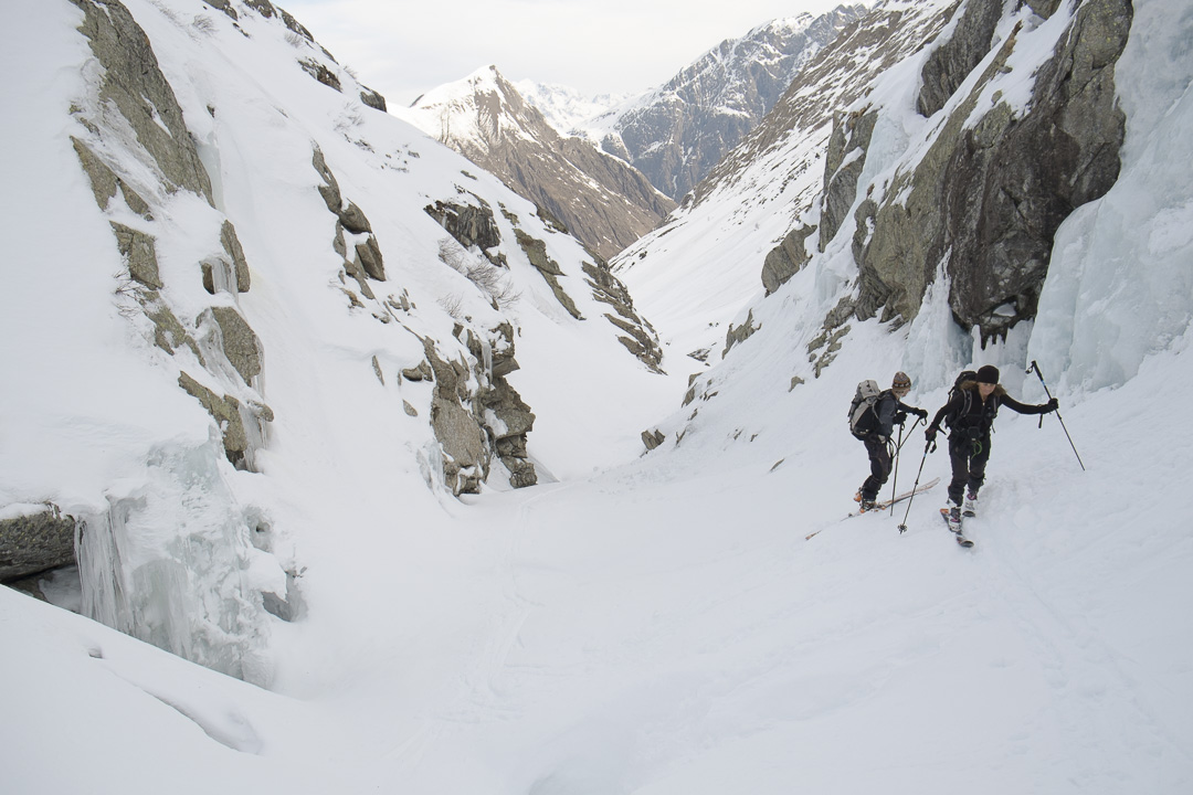
POLYGON ((620 251, 674 206, 622 160, 561 136, 495 67, 395 113, 500 176, 600 256, 620 251))

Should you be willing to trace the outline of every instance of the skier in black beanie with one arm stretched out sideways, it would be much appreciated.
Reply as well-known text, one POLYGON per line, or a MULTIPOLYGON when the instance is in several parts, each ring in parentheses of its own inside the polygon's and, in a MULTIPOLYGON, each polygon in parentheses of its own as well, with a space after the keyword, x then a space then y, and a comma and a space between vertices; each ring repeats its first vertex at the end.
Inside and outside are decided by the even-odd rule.
POLYGON ((1019 414, 1047 414, 1056 411, 1057 400, 1028 405, 1020 403, 999 384, 999 368, 985 365, 977 371, 977 379, 963 381, 953 398, 941 406, 925 435, 929 442, 937 440, 940 423, 948 418, 948 458, 953 465, 953 479, 948 484, 948 526, 960 530, 962 496, 964 513, 973 516, 977 511, 977 492, 985 480, 985 464, 990 460, 990 430, 1000 406, 1019 414))

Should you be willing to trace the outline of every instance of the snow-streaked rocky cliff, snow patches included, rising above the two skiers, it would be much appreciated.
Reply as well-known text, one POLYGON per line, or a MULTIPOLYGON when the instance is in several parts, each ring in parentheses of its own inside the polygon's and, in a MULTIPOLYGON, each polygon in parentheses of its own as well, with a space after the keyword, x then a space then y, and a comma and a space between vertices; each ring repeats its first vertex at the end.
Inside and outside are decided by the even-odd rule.
POLYGON ((787 179, 803 181, 798 219, 762 263, 768 293, 843 230, 852 235, 855 293, 826 318, 811 352, 821 365, 822 346, 851 313, 910 322, 938 274, 948 280, 954 319, 983 342, 1034 317, 1056 229, 1118 175, 1114 62, 1131 25, 1126 1, 1087 0, 1071 15, 1053 6, 878 4, 694 191, 692 206, 741 190, 767 160, 785 159, 787 179), (1020 46, 1028 32, 1031 44, 1020 46), (1025 67, 1041 46, 1049 56, 1025 67), (859 67, 863 54, 870 63, 859 67), (905 143, 914 124, 866 94, 896 64, 914 77, 910 101, 932 124, 919 148, 890 162, 892 131, 905 143), (1025 86, 1019 75, 1028 70, 1025 86), (795 136, 824 132, 817 151, 791 156, 795 136), (872 161, 876 145, 886 161, 872 161), (815 166, 822 176, 812 184, 815 166))

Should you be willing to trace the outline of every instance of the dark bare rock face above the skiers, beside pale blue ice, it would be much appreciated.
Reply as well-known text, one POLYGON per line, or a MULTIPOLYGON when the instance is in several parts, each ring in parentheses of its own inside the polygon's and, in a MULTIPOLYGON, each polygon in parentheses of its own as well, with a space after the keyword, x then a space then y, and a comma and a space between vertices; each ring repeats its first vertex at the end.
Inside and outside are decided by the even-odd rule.
POLYGON ((978 327, 983 343, 1036 316, 1057 228, 1118 179, 1125 119, 1114 62, 1131 20, 1127 0, 1087 0, 1038 70, 1027 114, 1000 104, 966 129, 1015 36, 1005 42, 915 172, 896 176, 882 206, 860 207, 859 230, 872 224, 873 235, 855 241, 859 317, 915 317, 940 262, 954 318, 978 327))

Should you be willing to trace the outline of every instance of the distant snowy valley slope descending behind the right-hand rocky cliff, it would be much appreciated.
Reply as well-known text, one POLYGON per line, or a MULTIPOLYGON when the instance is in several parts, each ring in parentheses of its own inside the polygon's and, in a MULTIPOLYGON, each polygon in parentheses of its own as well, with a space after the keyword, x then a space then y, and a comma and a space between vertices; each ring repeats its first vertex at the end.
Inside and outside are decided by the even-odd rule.
POLYGON ((922 51, 954 5, 877 4, 817 54, 662 226, 612 262, 675 354, 719 358, 729 325, 742 324, 743 308, 762 294, 767 253, 798 217, 815 223, 834 113, 864 97, 885 69, 922 51))

